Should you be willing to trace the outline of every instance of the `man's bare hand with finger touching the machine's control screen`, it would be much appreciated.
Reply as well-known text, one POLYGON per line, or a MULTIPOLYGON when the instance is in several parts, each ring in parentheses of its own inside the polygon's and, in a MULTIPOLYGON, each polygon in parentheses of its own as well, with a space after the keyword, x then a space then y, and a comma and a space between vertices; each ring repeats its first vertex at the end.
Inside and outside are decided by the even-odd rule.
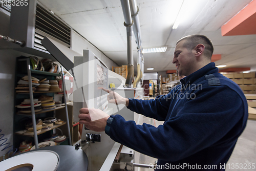
POLYGON ((109 103, 113 103, 113 104, 124 104, 126 106, 129 105, 129 99, 124 98, 122 96, 120 96, 118 93, 113 92, 111 90, 107 90, 102 88, 103 91, 108 92, 108 101, 109 103))

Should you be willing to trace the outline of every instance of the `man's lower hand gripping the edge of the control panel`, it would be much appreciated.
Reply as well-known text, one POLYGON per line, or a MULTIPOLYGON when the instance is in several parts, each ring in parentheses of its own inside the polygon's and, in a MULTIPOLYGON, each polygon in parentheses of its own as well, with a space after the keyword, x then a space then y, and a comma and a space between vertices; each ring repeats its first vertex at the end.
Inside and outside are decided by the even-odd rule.
POLYGON ((84 124, 87 129, 96 132, 105 131, 106 120, 110 117, 108 114, 99 109, 88 108, 82 108, 79 112, 79 123, 84 124))

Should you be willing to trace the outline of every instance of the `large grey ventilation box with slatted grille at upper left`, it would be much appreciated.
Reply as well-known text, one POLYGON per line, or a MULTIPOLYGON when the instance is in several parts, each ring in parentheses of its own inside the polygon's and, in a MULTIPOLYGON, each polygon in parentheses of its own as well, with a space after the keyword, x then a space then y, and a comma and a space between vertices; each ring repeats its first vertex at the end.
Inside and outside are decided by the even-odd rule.
POLYGON ((71 28, 44 9, 37 1, 30 0, 28 6, 11 7, 10 37, 26 41, 25 48, 19 48, 15 45, 11 48, 55 60, 41 45, 41 40, 45 36, 70 48, 71 28))

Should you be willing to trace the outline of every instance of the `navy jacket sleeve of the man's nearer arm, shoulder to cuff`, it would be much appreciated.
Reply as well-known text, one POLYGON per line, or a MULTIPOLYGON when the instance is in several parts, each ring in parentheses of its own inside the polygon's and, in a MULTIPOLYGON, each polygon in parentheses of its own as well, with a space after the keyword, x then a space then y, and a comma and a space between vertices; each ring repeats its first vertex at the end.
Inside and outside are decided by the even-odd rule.
MULTIPOLYGON (((218 92, 214 87, 200 90, 195 99, 181 106, 176 117, 163 125, 136 125, 116 115, 106 134, 151 157, 167 161, 184 159, 217 143, 243 118, 246 106, 240 96, 225 86, 219 86, 218 92)), ((159 103, 151 101, 146 105, 149 108, 153 104, 157 111, 159 103)))

